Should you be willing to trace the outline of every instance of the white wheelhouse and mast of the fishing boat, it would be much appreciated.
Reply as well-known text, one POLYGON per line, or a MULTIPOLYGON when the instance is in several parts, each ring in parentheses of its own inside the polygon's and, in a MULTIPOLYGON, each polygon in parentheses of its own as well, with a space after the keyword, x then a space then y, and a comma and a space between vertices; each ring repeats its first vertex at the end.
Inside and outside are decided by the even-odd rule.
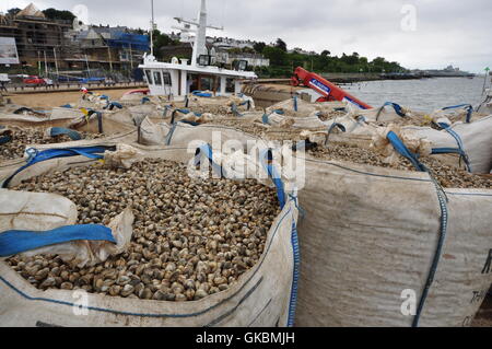
POLYGON ((171 62, 160 62, 153 50, 143 57, 143 65, 139 68, 144 71, 150 95, 166 96, 175 101, 184 100, 190 93, 226 96, 241 93, 243 81, 258 78, 254 72, 246 71, 247 61, 237 61, 235 69, 212 66, 212 57, 206 47, 206 0, 201 0, 198 18, 198 22, 179 19, 187 24, 188 31, 190 25, 196 26, 191 61, 174 57, 171 62), (208 92, 202 92, 203 90, 208 92))

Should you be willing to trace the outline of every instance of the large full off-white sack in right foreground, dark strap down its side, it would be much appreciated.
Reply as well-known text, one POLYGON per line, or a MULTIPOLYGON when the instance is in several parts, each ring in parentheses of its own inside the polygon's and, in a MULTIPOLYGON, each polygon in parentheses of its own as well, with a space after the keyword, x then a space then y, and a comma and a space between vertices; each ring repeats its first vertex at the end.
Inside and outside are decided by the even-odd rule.
POLYGON ((372 143, 304 158, 296 325, 469 326, 492 280, 490 179, 425 158, 429 141, 394 127, 372 143))

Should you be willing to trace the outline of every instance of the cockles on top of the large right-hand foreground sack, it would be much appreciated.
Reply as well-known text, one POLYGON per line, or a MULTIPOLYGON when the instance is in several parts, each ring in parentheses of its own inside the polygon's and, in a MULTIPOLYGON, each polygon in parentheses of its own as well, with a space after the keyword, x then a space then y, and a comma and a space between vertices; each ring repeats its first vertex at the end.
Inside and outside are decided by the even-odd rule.
MULTIPOLYGON (((403 156, 388 164, 384 156, 371 149, 364 149, 352 144, 330 143, 328 147, 318 146, 308 150, 309 155, 323 160, 348 161, 363 165, 391 167, 402 171, 417 171, 403 156)), ((419 159, 445 188, 491 188, 492 176, 470 174, 464 170, 455 168, 442 163, 440 160, 426 156, 419 159)))

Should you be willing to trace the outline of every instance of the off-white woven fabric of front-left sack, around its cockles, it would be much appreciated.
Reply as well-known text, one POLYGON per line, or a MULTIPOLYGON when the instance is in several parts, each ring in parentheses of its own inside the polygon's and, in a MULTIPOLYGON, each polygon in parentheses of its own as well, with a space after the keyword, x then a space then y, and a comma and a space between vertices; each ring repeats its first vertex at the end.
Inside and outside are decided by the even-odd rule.
MULTIPOLYGON (((204 163, 211 159, 210 148, 204 147, 200 149, 201 158, 194 158, 195 163, 197 163, 197 160, 200 163, 204 163)), ((115 151, 115 149, 107 150, 109 152, 115 151)), ((94 155, 96 153, 102 154, 102 151, 104 149, 85 149, 86 154, 91 153, 94 155)), ((128 148, 117 147, 116 151, 127 152, 128 148)), ((149 149, 149 151, 142 148, 142 151, 145 158, 150 156, 156 161, 173 162, 189 158, 183 148, 153 148, 149 149)), ((80 153, 82 154, 84 152, 80 153)), ((97 156, 93 161, 96 161, 96 159, 97 156)), ((87 163, 92 163, 91 161, 87 162, 87 159, 84 161, 84 156, 78 155, 46 160, 43 162, 43 166, 33 165, 32 167, 25 168, 19 174, 20 178, 12 179, 10 184, 15 185, 15 183, 20 183, 21 178, 27 179, 57 170, 80 166, 82 162, 85 162, 85 166, 87 163), (78 165, 75 165, 77 163, 78 165)), ((136 165, 133 164, 132 166, 136 165)), ((279 193, 282 191, 282 186, 278 186, 278 190, 279 193)), ((15 272, 15 270, 23 268, 23 266, 20 267, 20 261, 15 259, 12 265, 12 267, 15 267, 15 270, 4 263, 0 263, 0 288, 2 289, 0 303, 3 310, 1 315, 2 324, 24 326, 34 326, 42 323, 72 326, 292 325, 295 310, 295 283, 293 277, 295 246, 292 245, 292 241, 295 237, 296 206, 295 198, 291 198, 291 196, 286 197, 284 194, 279 196, 283 209, 273 220, 267 233, 265 251, 259 257, 258 263, 243 274, 236 283, 224 291, 190 303, 89 294, 87 315, 73 316, 72 292, 65 290, 47 290, 42 292, 34 289, 15 272), (43 301, 36 301, 34 304, 31 301, 32 299, 43 299, 43 301)), ((32 194, 20 193, 19 195, 32 194)), ((54 201, 49 200, 49 202, 54 201)), ((33 224, 30 224, 30 220, 23 219, 24 211, 13 212, 12 214, 15 214, 16 221, 23 224, 22 229, 35 229, 33 224)), ((59 219, 57 223, 51 224, 49 228, 57 228, 67 223, 70 224, 68 219, 59 219)), ((14 225, 13 229, 17 229, 17 226, 14 225)), ((224 245, 223 247, 225 248, 226 246, 224 245)))

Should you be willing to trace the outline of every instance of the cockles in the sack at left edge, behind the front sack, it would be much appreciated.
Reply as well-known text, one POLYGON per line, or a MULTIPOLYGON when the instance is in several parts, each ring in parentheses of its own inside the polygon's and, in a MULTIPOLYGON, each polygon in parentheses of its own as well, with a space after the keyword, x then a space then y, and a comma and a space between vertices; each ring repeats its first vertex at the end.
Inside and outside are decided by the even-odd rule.
MULTIPOLYGON (((43 129, 12 129, 12 140, 0 146, 0 161, 22 158, 25 148, 33 144, 52 144, 70 142, 72 139, 66 135, 48 137, 43 129)), ((83 139, 97 139, 103 135, 79 132, 83 139)))

